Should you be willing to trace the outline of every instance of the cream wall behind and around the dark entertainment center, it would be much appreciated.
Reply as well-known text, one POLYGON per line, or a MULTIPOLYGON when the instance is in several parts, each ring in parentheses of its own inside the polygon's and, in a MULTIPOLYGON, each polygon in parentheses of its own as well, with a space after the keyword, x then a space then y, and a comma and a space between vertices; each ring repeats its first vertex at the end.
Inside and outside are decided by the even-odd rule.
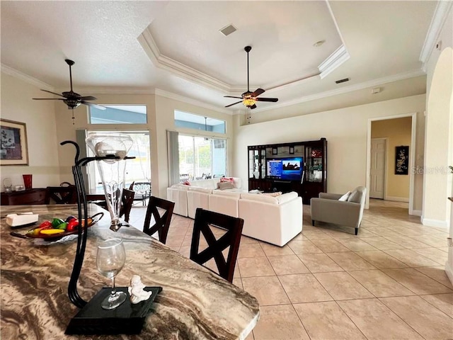
POLYGON ((356 186, 365 186, 368 119, 413 112, 423 115, 424 110, 425 95, 418 95, 242 126, 239 125, 243 118, 236 115, 234 176, 247 183, 248 145, 326 137, 328 191, 345 193, 356 186))

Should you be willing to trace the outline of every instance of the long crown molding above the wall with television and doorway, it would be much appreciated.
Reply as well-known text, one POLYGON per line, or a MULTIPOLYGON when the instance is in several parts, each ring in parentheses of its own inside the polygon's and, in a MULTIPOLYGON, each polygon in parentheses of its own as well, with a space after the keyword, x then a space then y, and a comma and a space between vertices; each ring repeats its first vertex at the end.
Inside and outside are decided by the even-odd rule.
POLYGON ((417 70, 411 71, 411 72, 404 72, 404 73, 400 73, 400 74, 394 74, 394 75, 389 76, 389 77, 382 77, 382 78, 379 78, 379 79, 373 79, 373 80, 370 80, 370 81, 365 81, 365 82, 360 83, 360 84, 354 84, 354 85, 350 85, 350 86, 345 86, 345 87, 342 87, 341 89, 335 89, 335 90, 331 90, 331 91, 324 91, 324 92, 320 92, 319 94, 311 94, 309 96, 304 96, 304 97, 301 97, 301 98, 294 99, 293 101, 285 101, 284 103, 273 105, 271 108, 260 108, 258 110, 255 109, 255 110, 253 110, 253 112, 256 113, 256 112, 275 110, 275 108, 284 108, 286 106, 292 106, 292 105, 296 105, 296 104, 299 104, 299 103, 304 103, 306 101, 314 101, 316 99, 321 99, 321 98, 326 98, 326 97, 331 97, 331 96, 337 96, 338 94, 346 94, 346 93, 352 92, 352 91, 358 91, 358 90, 362 90, 362 89, 367 89, 369 87, 374 87, 374 86, 378 86, 378 85, 392 83, 394 81, 403 80, 403 79, 410 79, 410 78, 420 77, 420 76, 424 76, 424 75, 425 75, 425 72, 423 72, 422 69, 417 69, 417 70))

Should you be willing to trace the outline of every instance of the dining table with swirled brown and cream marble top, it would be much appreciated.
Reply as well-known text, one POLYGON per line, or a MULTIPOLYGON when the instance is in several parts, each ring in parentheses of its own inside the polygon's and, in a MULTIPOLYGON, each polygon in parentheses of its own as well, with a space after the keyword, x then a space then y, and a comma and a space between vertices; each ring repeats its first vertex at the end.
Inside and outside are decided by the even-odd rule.
MULTIPOLYGON (((127 287, 134 275, 147 286, 161 287, 142 331, 134 335, 66 335, 65 330, 79 308, 68 297, 77 239, 22 238, 31 227, 12 230, 5 215, 39 214, 38 226, 52 218, 77 215, 77 205, 1 206, 1 339, 245 339, 258 322, 256 297, 204 266, 149 237, 132 226, 110 230, 110 214, 88 203, 88 216, 105 212, 88 227, 84 263, 78 293, 89 301, 110 280, 96 269, 97 245, 120 237, 126 262, 116 285, 127 287)), ((34 226, 32 226, 34 227, 34 226)))

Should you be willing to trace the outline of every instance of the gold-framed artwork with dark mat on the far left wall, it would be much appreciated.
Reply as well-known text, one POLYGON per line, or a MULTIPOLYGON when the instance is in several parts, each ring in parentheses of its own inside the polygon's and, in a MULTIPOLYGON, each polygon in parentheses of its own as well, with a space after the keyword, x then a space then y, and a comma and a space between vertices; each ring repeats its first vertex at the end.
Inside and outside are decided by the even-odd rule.
POLYGON ((0 119, 0 165, 28 165, 25 123, 0 119))

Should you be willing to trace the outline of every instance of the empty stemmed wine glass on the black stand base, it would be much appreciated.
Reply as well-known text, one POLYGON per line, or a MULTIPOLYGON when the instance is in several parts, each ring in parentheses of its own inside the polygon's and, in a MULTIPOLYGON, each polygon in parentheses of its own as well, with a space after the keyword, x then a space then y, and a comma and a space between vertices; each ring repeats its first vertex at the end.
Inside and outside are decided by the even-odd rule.
POLYGON ((99 273, 112 279, 112 293, 101 302, 104 310, 113 310, 125 302, 126 294, 115 290, 115 276, 125 265, 126 251, 122 239, 107 239, 98 245, 96 266, 99 273))

